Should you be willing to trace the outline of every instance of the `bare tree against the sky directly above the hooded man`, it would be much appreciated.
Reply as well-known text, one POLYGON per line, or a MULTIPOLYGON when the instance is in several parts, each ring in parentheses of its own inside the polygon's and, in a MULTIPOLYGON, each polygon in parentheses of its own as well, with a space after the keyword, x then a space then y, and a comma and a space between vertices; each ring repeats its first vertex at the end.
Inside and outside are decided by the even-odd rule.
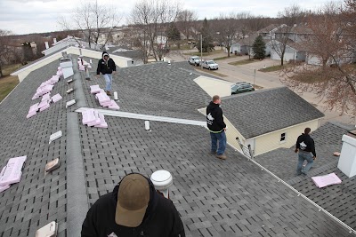
POLYGON ((89 43, 89 47, 92 47, 92 43, 97 47, 100 37, 104 38, 103 45, 108 43, 113 30, 120 22, 121 19, 116 12, 113 7, 100 5, 98 1, 94 4, 82 2, 72 12, 70 23, 64 17, 61 17, 58 23, 65 30, 80 30, 85 36, 86 42, 89 43))

